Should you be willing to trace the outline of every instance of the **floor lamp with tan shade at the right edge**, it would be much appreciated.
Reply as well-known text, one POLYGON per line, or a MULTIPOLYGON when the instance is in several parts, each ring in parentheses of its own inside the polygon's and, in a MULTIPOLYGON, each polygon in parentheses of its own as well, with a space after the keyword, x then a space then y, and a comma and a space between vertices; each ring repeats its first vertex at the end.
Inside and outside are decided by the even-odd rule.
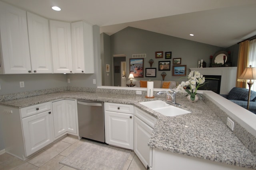
POLYGON ((238 82, 246 82, 249 86, 249 92, 248 92, 248 101, 247 101, 247 110, 249 110, 249 104, 250 104, 250 96, 251 96, 251 87, 252 87, 252 80, 256 80, 256 68, 252 67, 246 67, 244 69, 244 72, 241 74, 241 76, 238 77, 238 82), (248 81, 250 80, 250 81, 248 81))

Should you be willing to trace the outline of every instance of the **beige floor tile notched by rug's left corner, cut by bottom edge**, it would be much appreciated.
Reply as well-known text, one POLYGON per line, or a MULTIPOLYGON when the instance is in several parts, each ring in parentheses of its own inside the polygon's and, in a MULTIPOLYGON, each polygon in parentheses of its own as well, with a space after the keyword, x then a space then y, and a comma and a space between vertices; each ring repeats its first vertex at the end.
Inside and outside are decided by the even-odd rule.
POLYGON ((65 156, 57 155, 48 162, 46 162, 43 166, 41 166, 38 170, 59 170, 64 165, 59 164, 61 160, 63 160, 65 156))

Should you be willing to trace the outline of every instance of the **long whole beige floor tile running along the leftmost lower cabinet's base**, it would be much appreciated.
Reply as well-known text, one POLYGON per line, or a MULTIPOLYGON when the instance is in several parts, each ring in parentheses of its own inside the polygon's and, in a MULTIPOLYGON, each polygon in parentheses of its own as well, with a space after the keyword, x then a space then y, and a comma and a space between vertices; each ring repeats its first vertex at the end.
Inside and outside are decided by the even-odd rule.
POLYGON ((43 164, 54 158, 56 155, 58 155, 60 152, 62 152, 69 146, 70 144, 59 141, 57 143, 54 143, 54 145, 52 145, 51 147, 49 147, 47 150, 37 155, 36 157, 32 158, 28 162, 35 166, 41 167, 43 164))

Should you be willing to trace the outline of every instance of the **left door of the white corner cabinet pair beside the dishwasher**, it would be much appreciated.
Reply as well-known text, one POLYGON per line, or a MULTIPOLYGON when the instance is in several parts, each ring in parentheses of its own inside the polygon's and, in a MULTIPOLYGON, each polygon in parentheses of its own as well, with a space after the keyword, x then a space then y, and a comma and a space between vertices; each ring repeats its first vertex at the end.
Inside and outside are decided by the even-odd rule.
POLYGON ((66 133, 66 112, 65 100, 52 102, 53 122, 54 122, 54 136, 58 137, 66 133))

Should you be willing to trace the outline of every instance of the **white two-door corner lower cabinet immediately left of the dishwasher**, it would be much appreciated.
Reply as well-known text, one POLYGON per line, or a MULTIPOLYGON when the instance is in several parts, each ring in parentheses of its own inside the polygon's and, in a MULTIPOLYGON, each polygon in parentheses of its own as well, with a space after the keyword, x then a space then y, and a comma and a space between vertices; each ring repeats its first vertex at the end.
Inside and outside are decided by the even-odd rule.
POLYGON ((75 100, 59 100, 52 102, 54 136, 72 133, 76 135, 76 102, 75 100))

